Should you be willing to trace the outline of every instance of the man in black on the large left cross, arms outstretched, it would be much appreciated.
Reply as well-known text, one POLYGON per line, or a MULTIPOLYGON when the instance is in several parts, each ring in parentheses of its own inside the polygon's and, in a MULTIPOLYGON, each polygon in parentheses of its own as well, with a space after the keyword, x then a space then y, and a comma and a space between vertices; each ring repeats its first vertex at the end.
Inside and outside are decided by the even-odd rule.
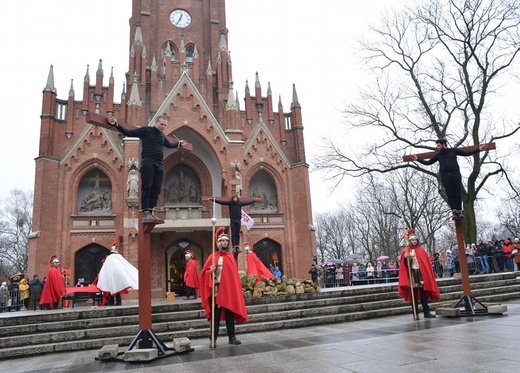
POLYGON ((163 148, 180 148, 186 145, 185 140, 168 141, 163 133, 168 119, 168 116, 163 114, 157 117, 153 126, 127 129, 119 125, 116 118, 107 117, 108 123, 115 126, 123 135, 138 137, 141 140, 141 209, 144 220, 159 219, 155 214, 155 207, 164 174, 163 148))

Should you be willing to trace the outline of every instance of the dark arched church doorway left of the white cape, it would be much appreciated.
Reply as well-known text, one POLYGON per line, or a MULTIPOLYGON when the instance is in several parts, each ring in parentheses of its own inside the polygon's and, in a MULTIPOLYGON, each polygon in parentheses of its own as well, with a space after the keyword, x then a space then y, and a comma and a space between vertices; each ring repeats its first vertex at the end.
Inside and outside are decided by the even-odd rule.
POLYGON ((110 254, 110 250, 98 244, 90 244, 76 251, 74 256, 74 284, 83 279, 84 284, 91 284, 98 276, 103 266, 103 259, 110 254))

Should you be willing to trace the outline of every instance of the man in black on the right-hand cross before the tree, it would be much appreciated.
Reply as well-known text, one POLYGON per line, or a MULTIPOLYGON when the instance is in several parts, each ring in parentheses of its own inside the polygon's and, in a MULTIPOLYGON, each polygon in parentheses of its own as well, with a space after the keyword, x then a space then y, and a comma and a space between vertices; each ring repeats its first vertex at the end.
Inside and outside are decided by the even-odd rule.
POLYGON ((466 152, 458 148, 448 148, 446 139, 438 139, 435 143, 437 144, 437 150, 433 157, 428 160, 423 160, 418 158, 417 155, 412 155, 412 160, 423 165, 431 165, 439 161, 441 182, 448 197, 448 205, 453 212, 454 218, 462 218, 462 176, 460 174, 457 156, 468 157, 481 150, 486 150, 487 146, 480 145, 479 148, 466 152))

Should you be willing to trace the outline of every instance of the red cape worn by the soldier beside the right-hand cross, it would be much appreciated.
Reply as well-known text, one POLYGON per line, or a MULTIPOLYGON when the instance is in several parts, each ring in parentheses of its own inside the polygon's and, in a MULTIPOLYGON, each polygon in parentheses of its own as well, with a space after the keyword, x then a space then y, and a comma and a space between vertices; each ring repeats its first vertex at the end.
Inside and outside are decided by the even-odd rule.
MULTIPOLYGON (((405 260, 407 260, 405 258, 405 252, 410 251, 412 249, 415 250, 415 255, 417 256, 417 261, 419 262, 419 269, 424 280, 423 288, 426 291, 427 298, 429 300, 441 299, 441 294, 439 292, 439 287, 437 286, 437 281, 435 280, 435 275, 433 274, 433 268, 430 263, 430 259, 428 258, 426 250, 422 246, 407 246, 401 253, 398 287, 399 296, 407 301, 412 300, 412 295, 409 286, 408 267, 404 264, 405 260)), ((421 292, 419 292, 419 299, 420 297, 421 292)))

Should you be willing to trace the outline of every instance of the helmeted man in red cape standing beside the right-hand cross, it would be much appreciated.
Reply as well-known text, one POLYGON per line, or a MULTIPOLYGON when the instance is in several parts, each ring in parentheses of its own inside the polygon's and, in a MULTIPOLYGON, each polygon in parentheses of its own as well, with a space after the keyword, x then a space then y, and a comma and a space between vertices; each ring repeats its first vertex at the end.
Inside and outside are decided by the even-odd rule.
POLYGON ((412 300, 412 293, 410 291, 410 272, 409 265, 412 270, 412 288, 413 288, 413 302, 412 309, 414 311, 415 320, 419 320, 417 301, 421 301, 425 318, 435 318, 435 315, 430 313, 428 300, 439 300, 441 294, 433 268, 426 250, 419 246, 416 236, 410 236, 408 239, 410 244, 404 248, 401 253, 401 263, 399 266, 399 287, 398 294, 406 301, 412 300))

